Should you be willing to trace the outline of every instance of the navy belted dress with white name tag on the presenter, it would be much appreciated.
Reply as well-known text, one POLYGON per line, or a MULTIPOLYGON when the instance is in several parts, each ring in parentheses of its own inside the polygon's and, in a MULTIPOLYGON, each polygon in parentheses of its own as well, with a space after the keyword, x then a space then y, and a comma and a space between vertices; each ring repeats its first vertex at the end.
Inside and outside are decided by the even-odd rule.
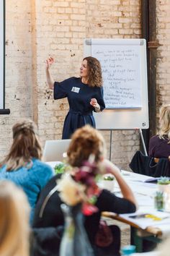
POLYGON ((69 139, 73 132, 85 124, 96 127, 91 98, 96 98, 102 111, 105 108, 103 88, 89 87, 79 77, 71 77, 54 83, 54 99, 68 98, 69 111, 63 125, 62 139, 69 139))

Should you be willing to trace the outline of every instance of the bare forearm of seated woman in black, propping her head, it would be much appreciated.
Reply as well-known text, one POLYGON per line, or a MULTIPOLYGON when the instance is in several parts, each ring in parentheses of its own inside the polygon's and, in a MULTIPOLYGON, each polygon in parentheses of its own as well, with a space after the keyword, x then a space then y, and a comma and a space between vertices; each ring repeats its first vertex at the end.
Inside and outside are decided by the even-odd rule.
POLYGON ((104 166, 109 168, 109 173, 112 173, 115 176, 115 178, 117 179, 117 183, 120 186, 120 189, 121 189, 121 192, 122 192, 122 196, 125 199, 130 200, 130 202, 133 202, 134 205, 137 208, 138 204, 137 204, 137 202, 135 200, 135 197, 133 195, 133 191, 130 189, 128 184, 125 182, 125 179, 123 179, 122 175, 120 174, 119 168, 117 168, 117 166, 115 166, 113 163, 111 163, 107 159, 104 159, 102 161, 102 164, 104 164, 104 166))

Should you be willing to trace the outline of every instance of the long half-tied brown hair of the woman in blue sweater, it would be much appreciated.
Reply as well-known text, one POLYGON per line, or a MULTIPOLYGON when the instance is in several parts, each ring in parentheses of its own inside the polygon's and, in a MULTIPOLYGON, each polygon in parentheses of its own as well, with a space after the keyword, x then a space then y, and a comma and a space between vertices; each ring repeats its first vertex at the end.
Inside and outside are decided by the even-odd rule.
POLYGON ((12 127, 13 142, 9 154, 1 163, 6 164, 7 171, 26 166, 32 158, 42 157, 42 148, 37 137, 37 128, 30 119, 22 119, 12 127))

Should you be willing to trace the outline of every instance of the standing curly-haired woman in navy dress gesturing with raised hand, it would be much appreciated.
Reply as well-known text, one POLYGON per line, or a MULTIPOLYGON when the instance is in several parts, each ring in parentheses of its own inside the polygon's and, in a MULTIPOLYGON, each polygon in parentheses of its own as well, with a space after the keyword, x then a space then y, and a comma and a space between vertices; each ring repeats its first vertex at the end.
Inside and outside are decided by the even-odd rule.
POLYGON ((85 124, 96 127, 93 111, 105 108, 102 88, 102 69, 94 57, 83 59, 80 77, 71 77, 63 82, 55 82, 50 74, 53 57, 46 60, 48 86, 53 90, 54 99, 68 98, 69 111, 63 125, 62 139, 69 139, 73 132, 85 124))

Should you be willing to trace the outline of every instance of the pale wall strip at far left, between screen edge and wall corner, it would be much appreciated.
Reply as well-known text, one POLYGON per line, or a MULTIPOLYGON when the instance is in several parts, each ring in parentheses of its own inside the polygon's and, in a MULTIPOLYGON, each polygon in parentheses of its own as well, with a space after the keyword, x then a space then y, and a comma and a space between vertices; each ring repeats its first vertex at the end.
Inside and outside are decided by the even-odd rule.
POLYGON ((32 49, 30 1, 6 1, 6 108, 0 115, 0 159, 12 142, 12 125, 32 118, 32 49))

